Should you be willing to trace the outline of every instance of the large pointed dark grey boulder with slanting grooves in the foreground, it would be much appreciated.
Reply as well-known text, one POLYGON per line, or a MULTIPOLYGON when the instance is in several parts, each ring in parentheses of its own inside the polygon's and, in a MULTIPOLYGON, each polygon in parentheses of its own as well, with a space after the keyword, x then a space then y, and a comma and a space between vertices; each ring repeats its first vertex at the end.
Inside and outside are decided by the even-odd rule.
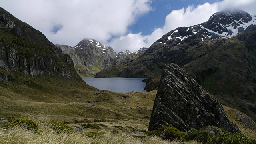
POLYGON ((228 132, 239 132, 214 96, 176 64, 167 64, 148 130, 174 126, 186 131, 208 125, 224 128, 228 132))

